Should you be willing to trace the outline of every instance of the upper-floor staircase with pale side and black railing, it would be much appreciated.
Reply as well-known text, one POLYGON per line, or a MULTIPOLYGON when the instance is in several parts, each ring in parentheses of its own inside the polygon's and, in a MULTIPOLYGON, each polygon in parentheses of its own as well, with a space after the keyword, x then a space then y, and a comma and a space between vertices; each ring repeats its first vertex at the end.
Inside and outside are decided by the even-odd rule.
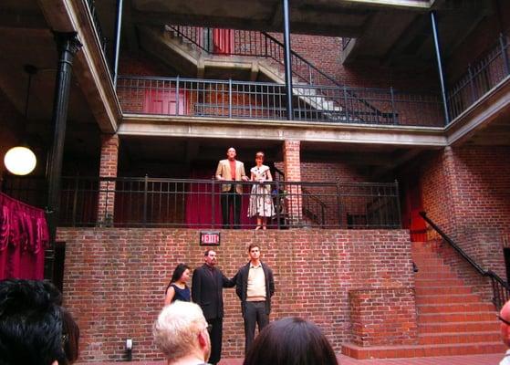
MULTIPOLYGON (((205 68, 234 68, 237 72, 244 70, 250 73, 252 80, 256 79, 256 74, 261 74, 272 82, 285 84, 283 45, 274 37, 264 32, 245 31, 248 36, 235 37, 234 42, 237 43, 232 53, 235 56, 233 58, 211 53, 207 49, 209 47, 204 46, 207 41, 200 29, 203 28, 165 26, 161 35, 159 30, 145 27, 141 28, 141 33, 148 40, 148 51, 155 52, 157 57, 170 61, 173 67, 185 73, 196 72, 199 78, 203 78, 205 68), (253 40, 254 35, 256 49, 253 52, 244 49, 243 42, 253 40)), ((306 120, 308 114, 313 114, 314 119, 320 116, 319 119, 327 121, 378 124, 396 122, 396 114, 378 110, 294 51, 291 58, 295 118, 298 120, 306 120)))

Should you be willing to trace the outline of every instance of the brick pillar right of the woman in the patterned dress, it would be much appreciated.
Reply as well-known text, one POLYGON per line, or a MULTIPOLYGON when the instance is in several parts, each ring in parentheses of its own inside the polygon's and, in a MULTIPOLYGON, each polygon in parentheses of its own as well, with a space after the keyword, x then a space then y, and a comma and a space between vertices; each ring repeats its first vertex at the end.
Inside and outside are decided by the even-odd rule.
MULTIPOLYGON (((287 182, 301 182, 300 145, 300 141, 284 142, 284 172, 287 182)), ((302 221, 301 185, 287 184, 285 190, 289 224, 299 225, 302 221)))

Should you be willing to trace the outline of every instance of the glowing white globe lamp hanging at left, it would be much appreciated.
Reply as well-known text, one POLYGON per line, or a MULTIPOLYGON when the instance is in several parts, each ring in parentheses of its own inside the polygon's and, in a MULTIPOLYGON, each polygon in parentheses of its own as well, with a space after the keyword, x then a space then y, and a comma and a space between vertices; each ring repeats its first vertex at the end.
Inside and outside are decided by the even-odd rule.
MULTIPOLYGON (((26 87, 25 120, 28 122, 28 100, 30 98, 30 83, 32 76, 36 74, 37 68, 32 65, 25 65, 26 74, 28 74, 28 85, 26 87)), ((24 133, 25 134, 25 133, 24 133)), ((25 138, 25 136, 24 136, 25 138)), ((5 153, 4 163, 6 169, 15 175, 26 175, 33 172, 36 168, 37 159, 33 151, 26 146, 21 145, 11 148, 5 153)))

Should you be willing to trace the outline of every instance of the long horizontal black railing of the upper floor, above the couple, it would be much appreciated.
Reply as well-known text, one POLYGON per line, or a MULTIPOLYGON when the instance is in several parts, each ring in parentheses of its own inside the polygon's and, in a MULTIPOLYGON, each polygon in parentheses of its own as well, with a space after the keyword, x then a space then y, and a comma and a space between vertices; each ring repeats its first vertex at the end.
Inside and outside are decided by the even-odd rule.
MULTIPOLYGON (((285 85, 195 78, 118 78, 124 113, 286 120, 285 85)), ((338 123, 442 126, 436 96, 401 94, 393 89, 353 89, 299 85, 294 88, 294 120, 338 123), (378 106, 365 108, 361 96, 378 106)))

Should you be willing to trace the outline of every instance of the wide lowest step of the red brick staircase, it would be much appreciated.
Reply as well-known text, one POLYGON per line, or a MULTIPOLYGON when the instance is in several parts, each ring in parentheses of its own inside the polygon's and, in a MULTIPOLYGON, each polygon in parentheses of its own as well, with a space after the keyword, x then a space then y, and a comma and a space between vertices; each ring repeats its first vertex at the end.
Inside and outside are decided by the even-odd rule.
POLYGON ((366 348, 349 343, 342 346, 342 354, 359 360, 474 355, 498 352, 505 352, 505 345, 501 341, 448 345, 370 346, 366 348))

